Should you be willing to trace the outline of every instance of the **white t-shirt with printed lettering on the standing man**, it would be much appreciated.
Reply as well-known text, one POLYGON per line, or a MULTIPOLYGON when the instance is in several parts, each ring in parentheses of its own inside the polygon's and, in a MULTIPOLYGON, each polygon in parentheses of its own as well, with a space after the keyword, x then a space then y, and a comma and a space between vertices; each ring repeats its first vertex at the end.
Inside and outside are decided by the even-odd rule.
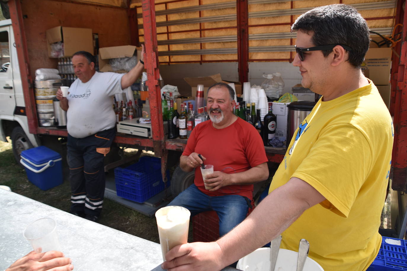
POLYGON ((72 83, 66 112, 66 128, 72 137, 88 137, 114 127, 113 95, 123 91, 120 85, 123 75, 96 72, 86 83, 79 79, 72 83))

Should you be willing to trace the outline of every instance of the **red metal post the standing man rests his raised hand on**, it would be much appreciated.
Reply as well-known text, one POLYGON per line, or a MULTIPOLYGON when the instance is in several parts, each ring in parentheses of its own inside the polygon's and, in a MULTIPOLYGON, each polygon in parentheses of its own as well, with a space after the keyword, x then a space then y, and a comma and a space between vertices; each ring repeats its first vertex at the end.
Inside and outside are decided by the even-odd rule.
POLYGON ((164 147, 164 126, 161 111, 160 71, 158 69, 158 47, 155 25, 155 6, 153 0, 142 0, 144 45, 146 55, 144 67, 147 69, 147 87, 151 113, 154 152, 161 156, 164 147))

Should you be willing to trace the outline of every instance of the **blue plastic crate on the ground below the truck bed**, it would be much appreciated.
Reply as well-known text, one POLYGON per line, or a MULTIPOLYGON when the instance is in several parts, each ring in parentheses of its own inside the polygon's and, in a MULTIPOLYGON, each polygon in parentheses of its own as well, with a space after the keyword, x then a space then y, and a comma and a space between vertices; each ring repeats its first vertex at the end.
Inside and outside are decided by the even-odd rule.
MULTIPOLYGON (((170 173, 167 170, 167 187, 170 185, 170 173)), ((114 169, 116 193, 119 197, 134 202, 145 202, 164 190, 161 176, 161 159, 142 156, 138 163, 126 168, 114 169)))

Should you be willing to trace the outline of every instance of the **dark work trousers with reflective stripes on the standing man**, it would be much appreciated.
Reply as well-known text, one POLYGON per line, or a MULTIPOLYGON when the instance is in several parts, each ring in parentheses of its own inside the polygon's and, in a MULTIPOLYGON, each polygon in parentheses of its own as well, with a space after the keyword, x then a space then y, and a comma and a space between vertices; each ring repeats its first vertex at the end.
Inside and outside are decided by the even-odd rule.
POLYGON ((115 135, 115 128, 84 138, 68 134, 71 212, 100 215, 105 193, 103 158, 109 152, 115 135))

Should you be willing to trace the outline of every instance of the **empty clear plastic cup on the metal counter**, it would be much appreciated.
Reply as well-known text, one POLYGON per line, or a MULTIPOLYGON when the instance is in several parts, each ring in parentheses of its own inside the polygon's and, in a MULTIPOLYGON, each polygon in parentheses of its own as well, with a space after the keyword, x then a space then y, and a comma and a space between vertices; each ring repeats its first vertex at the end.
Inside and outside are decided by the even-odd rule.
POLYGON ((57 234, 57 223, 52 218, 42 218, 34 221, 24 230, 24 237, 31 243, 33 249, 46 252, 61 251, 57 234))

